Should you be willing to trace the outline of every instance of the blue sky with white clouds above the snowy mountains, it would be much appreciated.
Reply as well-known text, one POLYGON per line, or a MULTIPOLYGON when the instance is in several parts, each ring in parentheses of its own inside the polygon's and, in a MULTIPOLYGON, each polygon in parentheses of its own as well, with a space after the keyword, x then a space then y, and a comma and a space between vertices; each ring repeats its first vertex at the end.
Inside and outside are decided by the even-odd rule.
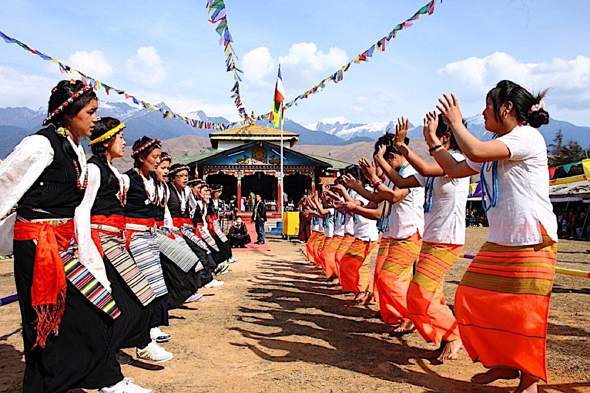
MULTIPOLYGON (((236 65, 244 71, 244 107, 255 114, 270 110, 278 62, 291 100, 427 2, 226 0, 236 65)), ((205 0, 76 4, 84 6, 3 2, 0 31, 140 100, 163 101, 179 113, 204 110, 239 120, 230 98, 232 73, 225 72, 205 0)), ((286 116, 310 124, 405 115, 419 124, 442 93, 453 92, 470 117, 483 110, 486 92, 507 78, 534 91, 553 87, 545 100, 550 115, 590 126, 587 5, 586 0, 437 2, 433 15, 399 31, 385 52, 353 64, 343 81, 299 101, 286 116)), ((0 107, 43 107, 62 78, 57 65, 0 40, 0 107)), ((99 97, 113 101, 104 90, 99 97)))

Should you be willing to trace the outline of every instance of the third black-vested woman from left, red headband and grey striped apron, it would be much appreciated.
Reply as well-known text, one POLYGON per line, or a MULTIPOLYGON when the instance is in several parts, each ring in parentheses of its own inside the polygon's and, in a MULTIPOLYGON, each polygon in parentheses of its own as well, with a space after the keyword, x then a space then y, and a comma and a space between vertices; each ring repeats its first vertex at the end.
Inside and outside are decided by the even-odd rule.
POLYGON ((153 341, 145 348, 137 348, 137 357, 155 362, 165 362, 173 357, 170 352, 156 344, 170 339, 170 335, 160 330, 160 326, 168 326, 168 288, 160 264, 155 220, 158 205, 165 205, 166 199, 165 195, 158 193, 155 174, 161 152, 158 139, 142 137, 135 141, 132 154, 133 168, 124 173, 124 176, 129 178, 129 187, 123 207, 129 252, 156 295, 150 323, 150 336, 153 341))

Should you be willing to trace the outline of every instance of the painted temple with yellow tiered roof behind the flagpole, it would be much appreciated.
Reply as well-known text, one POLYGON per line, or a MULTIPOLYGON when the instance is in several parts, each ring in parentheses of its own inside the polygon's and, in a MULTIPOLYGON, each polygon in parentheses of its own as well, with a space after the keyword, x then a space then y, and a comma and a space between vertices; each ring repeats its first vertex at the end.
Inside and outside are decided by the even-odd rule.
MULTIPOLYGON (((280 130, 250 124, 209 134, 212 150, 175 160, 188 164, 191 172, 208 184, 222 184, 226 197, 250 200, 260 194, 270 206, 281 210, 283 191, 296 206, 307 191, 315 191, 322 178, 335 176, 349 163, 293 150, 299 134, 283 131, 283 182, 280 180, 280 130)), ((242 210, 238 203, 238 209, 242 210)), ((287 206, 285 206, 287 209, 287 206)))

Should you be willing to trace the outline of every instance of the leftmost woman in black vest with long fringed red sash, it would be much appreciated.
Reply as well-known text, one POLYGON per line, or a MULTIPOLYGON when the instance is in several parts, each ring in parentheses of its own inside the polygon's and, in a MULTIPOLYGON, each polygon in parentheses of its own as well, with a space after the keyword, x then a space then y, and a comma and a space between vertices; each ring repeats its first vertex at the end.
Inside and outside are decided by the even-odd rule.
POLYGON ((47 128, 24 138, 0 164, 0 215, 18 202, 14 276, 27 393, 113 392, 126 383, 112 348, 113 320, 121 313, 121 288, 110 282, 116 272, 101 263, 81 265, 75 255, 74 210, 88 184, 80 138, 90 136, 97 108, 90 85, 60 81, 47 128))

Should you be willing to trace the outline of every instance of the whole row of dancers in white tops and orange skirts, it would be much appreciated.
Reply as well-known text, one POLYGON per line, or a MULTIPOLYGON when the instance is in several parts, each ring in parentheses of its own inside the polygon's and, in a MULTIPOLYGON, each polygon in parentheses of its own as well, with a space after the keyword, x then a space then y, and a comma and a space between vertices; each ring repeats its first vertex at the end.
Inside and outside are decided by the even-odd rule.
POLYGON ((435 162, 408 147, 407 119, 333 184, 309 197, 308 259, 364 303, 379 302, 392 335, 418 331, 437 348, 422 358, 456 359, 464 346, 488 368, 471 381, 520 378, 514 392, 547 381, 546 329, 555 276, 557 227, 549 201, 545 140, 536 129, 549 114, 542 98, 511 81, 486 97, 480 141, 466 128, 454 95, 424 118, 435 162), (360 174, 362 171, 362 174, 360 174), (455 315, 442 286, 465 243, 469 177, 479 174, 490 230, 455 293, 455 315), (313 209, 313 210, 312 210, 313 209), (375 272, 371 251, 378 243, 375 272), (414 262, 417 263, 414 265, 414 262), (415 270, 414 270, 415 269, 415 270))

